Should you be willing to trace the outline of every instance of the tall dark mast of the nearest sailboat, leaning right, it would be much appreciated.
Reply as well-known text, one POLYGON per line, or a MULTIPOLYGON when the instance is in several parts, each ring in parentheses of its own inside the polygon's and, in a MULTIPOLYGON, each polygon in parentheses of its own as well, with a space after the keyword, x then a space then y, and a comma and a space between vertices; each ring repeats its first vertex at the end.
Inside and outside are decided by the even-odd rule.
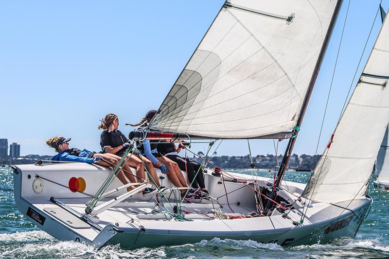
MULTIPOLYGON (((314 72, 312 74, 311 81, 309 82, 308 90, 306 92, 303 104, 301 106, 300 116, 299 116, 297 123, 296 123, 296 126, 293 130, 293 137, 289 139, 288 145, 287 145, 286 150, 285 150, 285 154, 283 156, 283 161, 281 163, 280 169, 278 170, 275 186, 273 187, 273 191, 270 194, 270 199, 272 199, 272 200, 274 200, 274 198, 276 197, 277 189, 281 185, 281 182, 283 180, 283 176, 284 176, 285 171, 286 171, 286 166, 288 165, 290 155, 292 153, 293 147, 294 147, 296 139, 297 139, 297 135, 299 134, 302 119, 304 118, 305 111, 308 107, 309 99, 311 97, 313 88, 315 86, 315 82, 316 82, 316 79, 318 77, 318 73, 320 70, 321 63, 323 62, 325 52, 326 52, 328 44, 330 42, 331 35, 332 35, 332 32, 333 32, 334 27, 335 27, 336 19, 337 19, 337 16, 339 15, 339 11, 340 11, 340 8, 342 6, 342 2, 343 2, 343 0, 338 0, 336 3, 335 11, 334 11, 334 14, 331 18, 330 26, 328 28, 326 35, 325 35, 323 45, 321 46, 318 61, 315 65, 315 69, 314 69, 314 72)), ((271 200, 268 200, 266 207, 265 207, 265 210, 270 209, 272 206, 273 206, 273 202, 271 200)))

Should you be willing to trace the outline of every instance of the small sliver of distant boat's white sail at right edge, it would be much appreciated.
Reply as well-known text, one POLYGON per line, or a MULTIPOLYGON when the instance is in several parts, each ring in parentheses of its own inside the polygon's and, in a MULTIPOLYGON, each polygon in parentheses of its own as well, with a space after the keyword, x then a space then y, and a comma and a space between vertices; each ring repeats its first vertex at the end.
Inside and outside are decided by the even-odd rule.
POLYGON ((386 182, 389 185, 389 125, 386 128, 384 139, 378 151, 377 160, 375 162, 375 170, 377 181, 386 182))

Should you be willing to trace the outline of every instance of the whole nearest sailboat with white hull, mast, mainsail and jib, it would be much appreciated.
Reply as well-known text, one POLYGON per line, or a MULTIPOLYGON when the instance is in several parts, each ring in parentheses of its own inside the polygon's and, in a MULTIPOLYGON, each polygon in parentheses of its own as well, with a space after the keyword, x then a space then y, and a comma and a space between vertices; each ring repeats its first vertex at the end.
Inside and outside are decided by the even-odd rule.
POLYGON ((210 167, 204 178, 211 198, 184 202, 159 170, 170 194, 143 197, 138 192, 149 184, 126 192, 127 185, 112 177, 116 167, 18 165, 13 166, 18 209, 58 240, 95 247, 131 249, 215 237, 288 246, 354 236, 371 208, 368 182, 389 119, 388 17, 310 180, 283 180, 341 4, 226 1, 150 131, 129 135, 285 140, 276 178, 210 167))

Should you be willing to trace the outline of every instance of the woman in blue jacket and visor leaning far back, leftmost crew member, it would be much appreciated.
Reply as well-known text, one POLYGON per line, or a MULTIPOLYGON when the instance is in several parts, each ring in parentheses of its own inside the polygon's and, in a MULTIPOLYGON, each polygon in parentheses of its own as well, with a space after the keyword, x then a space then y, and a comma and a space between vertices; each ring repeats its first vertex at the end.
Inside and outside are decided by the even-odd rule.
MULTIPOLYGON (((119 162, 119 160, 117 159, 118 157, 112 154, 100 154, 96 152, 91 152, 87 149, 83 149, 83 150, 80 150, 78 148, 69 149, 70 140, 71 138, 53 137, 46 141, 46 144, 48 146, 53 147, 55 151, 58 152, 58 154, 52 157, 52 161, 96 163, 106 167, 110 167, 110 165, 104 162, 103 159, 106 160, 107 162, 111 162, 114 165, 116 165, 119 162)), ((127 165, 123 165, 123 169, 128 172, 131 172, 131 168, 129 168, 127 165)), ((129 176, 129 178, 131 179, 130 181, 124 175, 124 172, 122 170, 120 170, 116 176, 123 184, 136 182, 133 176, 129 176)), ((127 191, 131 191, 134 188, 135 188, 134 186, 130 186, 127 188, 127 191)))

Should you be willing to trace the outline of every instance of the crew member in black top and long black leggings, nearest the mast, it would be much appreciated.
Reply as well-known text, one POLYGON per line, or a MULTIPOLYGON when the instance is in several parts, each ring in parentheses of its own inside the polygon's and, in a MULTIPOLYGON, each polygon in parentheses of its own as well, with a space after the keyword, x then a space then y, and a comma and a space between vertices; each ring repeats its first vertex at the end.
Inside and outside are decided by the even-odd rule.
POLYGON ((205 188, 204 175, 201 164, 192 159, 180 157, 178 153, 181 151, 181 145, 182 144, 176 146, 170 141, 160 141, 157 146, 157 150, 161 155, 164 155, 174 162, 177 162, 179 168, 188 173, 189 183, 192 182, 192 187, 201 188, 202 193, 200 194, 200 197, 206 198, 209 196, 209 194, 205 188))

